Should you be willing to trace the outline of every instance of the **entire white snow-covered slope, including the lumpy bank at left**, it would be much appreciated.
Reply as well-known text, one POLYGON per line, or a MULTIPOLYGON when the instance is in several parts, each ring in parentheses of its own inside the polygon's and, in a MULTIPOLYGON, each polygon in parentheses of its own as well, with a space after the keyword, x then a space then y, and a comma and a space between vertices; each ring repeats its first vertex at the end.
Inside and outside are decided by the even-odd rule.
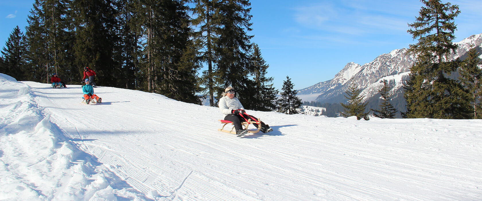
POLYGON ((216 107, 67 87, 0 74, 0 200, 482 200, 481 120, 248 110, 273 132, 240 138, 216 107))

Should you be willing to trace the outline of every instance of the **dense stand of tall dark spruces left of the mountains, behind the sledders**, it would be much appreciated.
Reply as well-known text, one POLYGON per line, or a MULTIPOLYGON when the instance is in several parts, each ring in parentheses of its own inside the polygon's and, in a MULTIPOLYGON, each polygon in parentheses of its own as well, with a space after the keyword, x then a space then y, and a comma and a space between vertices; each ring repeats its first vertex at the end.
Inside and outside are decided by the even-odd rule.
POLYGON ((53 73, 80 84, 163 94, 211 106, 227 86, 244 106, 273 110, 277 91, 251 42, 249 0, 36 0, 26 33, 17 26, 2 50, 0 72, 50 82, 53 73))

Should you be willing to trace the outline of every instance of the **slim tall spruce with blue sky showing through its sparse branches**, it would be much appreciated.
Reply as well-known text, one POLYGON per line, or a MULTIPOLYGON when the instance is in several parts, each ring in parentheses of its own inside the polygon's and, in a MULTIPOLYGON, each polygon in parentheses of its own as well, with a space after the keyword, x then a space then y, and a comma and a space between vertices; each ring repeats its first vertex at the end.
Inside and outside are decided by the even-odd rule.
MULTIPOLYGON (((199 30, 195 33, 196 44, 198 45, 199 60, 205 62, 207 70, 202 72, 201 83, 206 86, 209 94, 209 105, 214 106, 214 92, 218 91, 216 77, 216 52, 214 45, 219 38, 221 29, 221 14, 219 0, 193 0, 195 7, 192 9, 197 18, 192 20, 194 26, 199 30)), ((219 77, 219 76, 217 76, 219 77)))

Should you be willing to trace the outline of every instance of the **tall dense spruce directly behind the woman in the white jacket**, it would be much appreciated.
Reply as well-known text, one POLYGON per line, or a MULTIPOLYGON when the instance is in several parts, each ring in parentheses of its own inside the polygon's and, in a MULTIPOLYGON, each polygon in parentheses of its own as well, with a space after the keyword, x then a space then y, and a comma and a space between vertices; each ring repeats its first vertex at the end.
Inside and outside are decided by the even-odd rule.
POLYGON ((217 98, 221 97, 221 90, 232 86, 236 89, 238 98, 244 100, 243 106, 247 109, 253 105, 250 98, 254 90, 254 81, 248 77, 248 53, 251 49, 250 40, 253 38, 247 34, 247 31, 252 30, 250 5, 248 0, 220 0, 219 20, 222 28, 219 29, 219 38, 215 43, 218 55, 215 82, 221 86, 217 98))

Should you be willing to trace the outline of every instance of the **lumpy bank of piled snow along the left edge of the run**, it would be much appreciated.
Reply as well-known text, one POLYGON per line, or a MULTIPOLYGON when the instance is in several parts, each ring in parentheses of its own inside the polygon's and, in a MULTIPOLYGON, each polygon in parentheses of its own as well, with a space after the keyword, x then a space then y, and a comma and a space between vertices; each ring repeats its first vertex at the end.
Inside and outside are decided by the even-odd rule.
POLYGON ((0 200, 116 200, 112 174, 60 134, 26 84, 0 74, 0 86, 0 200))

